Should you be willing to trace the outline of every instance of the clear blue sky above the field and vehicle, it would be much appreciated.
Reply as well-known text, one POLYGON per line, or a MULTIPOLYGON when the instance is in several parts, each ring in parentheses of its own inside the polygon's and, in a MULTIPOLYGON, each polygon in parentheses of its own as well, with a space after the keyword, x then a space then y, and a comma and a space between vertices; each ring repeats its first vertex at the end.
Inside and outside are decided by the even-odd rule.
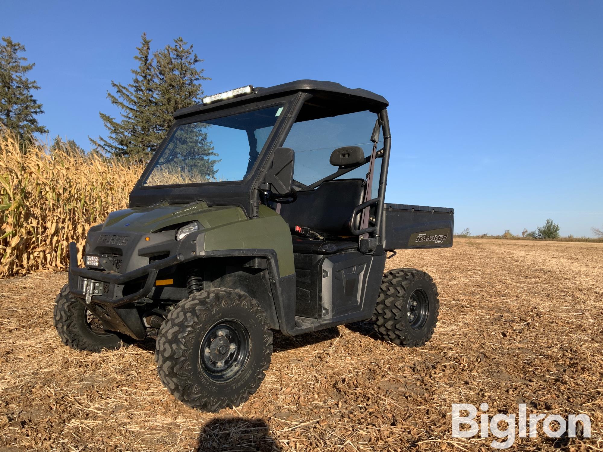
POLYGON ((206 94, 301 78, 390 101, 388 202, 454 207, 500 234, 603 225, 603 2, 2 2, 50 136, 104 133, 144 31, 204 58, 206 94))

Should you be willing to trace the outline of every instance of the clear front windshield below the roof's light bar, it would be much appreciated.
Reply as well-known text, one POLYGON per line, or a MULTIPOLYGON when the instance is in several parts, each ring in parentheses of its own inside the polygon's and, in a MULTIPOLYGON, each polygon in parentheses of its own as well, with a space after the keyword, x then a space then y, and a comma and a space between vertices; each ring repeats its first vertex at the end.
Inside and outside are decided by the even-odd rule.
POLYGON ((282 111, 277 105, 179 125, 142 186, 243 180, 282 111))

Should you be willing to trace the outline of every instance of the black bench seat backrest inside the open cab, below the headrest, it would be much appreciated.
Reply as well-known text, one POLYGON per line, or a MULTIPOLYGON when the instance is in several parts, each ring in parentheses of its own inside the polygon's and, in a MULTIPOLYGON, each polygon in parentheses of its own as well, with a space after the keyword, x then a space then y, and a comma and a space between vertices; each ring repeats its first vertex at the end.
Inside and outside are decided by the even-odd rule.
MULTIPOLYGON (((326 181, 317 189, 297 192, 291 204, 282 204, 280 215, 291 231, 295 226, 308 227, 318 233, 333 236, 350 236, 352 212, 362 204, 364 180, 343 179, 326 181)), ((358 227, 360 215, 356 215, 358 227)))

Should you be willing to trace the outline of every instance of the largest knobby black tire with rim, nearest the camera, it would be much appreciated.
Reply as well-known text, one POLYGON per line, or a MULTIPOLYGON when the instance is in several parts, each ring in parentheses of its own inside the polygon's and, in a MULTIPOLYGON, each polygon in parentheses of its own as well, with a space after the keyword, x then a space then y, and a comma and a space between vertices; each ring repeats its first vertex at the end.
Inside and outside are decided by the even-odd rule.
POLYGON ((272 342, 264 310, 247 293, 201 290, 180 301, 163 322, 155 360, 175 398, 217 412, 257 391, 270 366, 272 342))

